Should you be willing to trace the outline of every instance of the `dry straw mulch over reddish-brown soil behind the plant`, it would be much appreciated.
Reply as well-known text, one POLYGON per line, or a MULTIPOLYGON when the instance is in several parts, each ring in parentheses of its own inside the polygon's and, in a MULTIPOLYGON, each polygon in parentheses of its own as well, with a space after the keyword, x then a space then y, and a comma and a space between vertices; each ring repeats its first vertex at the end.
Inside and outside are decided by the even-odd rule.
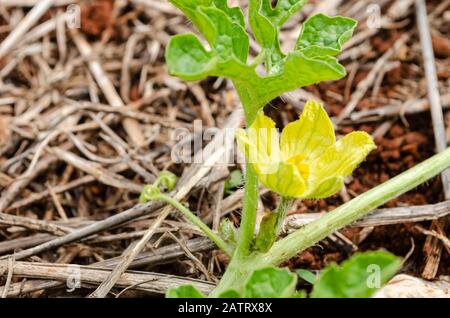
MULTIPOLYGON (((381 1, 383 22, 379 29, 368 27, 366 6, 357 5, 360 1, 356 0, 342 1, 337 7, 327 6, 327 1, 311 1, 283 28, 283 48, 289 48, 301 21, 315 10, 359 20, 354 39, 340 56, 348 75, 339 81, 285 94, 267 105, 266 113, 281 128, 298 117, 310 96, 323 101, 334 119, 356 101, 350 115, 339 122, 336 134, 364 130, 374 136, 377 144, 377 149, 346 180, 345 189, 338 195, 297 202, 290 214, 330 211, 436 153, 414 1, 400 5, 408 1, 381 1), (361 34, 366 36, 358 37, 361 34), (398 45, 405 35, 409 39, 398 45), (386 63, 377 68, 377 61, 386 54, 390 54, 386 63), (374 80, 365 83, 374 69, 374 80), (361 90, 362 97, 358 97, 361 90), (408 106, 421 100, 425 101, 419 110, 408 113, 408 106), (386 107, 396 111, 386 114, 383 112, 386 107)), ((430 27, 439 89, 446 106, 444 118, 450 127, 447 112, 450 1, 427 1, 427 6, 432 15, 430 27)), ((16 6, 14 1, 0 5, 0 41, 13 32, 29 10, 30 6, 16 6)), ((142 186, 151 183, 162 170, 182 177, 181 187, 189 184, 186 180, 193 165, 171 160, 172 147, 177 143, 174 133, 180 130, 192 133, 192 123, 197 119, 202 120, 204 128, 224 127, 239 107, 232 85, 226 80, 209 78, 186 83, 168 75, 164 48, 170 36, 192 30, 192 24, 162 0, 66 1, 47 10, 8 54, 0 56, 0 212, 23 217, 0 218, 0 257, 6 259, 14 251, 27 250, 124 211, 134 211, 142 186), (69 2, 80 5, 81 28, 68 29, 55 22, 53 28, 41 32, 39 26, 57 21, 58 16, 65 14, 69 2), (103 72, 93 70, 96 65, 103 72)), ((252 44, 252 56, 257 49, 252 44)), ((450 137, 450 128, 446 133, 450 137)), ((195 138, 194 134, 188 142, 195 138)), ((191 210, 215 228, 217 222, 213 220, 217 213, 239 221, 242 193, 238 190, 224 196, 223 184, 229 172, 240 168, 236 164, 212 169, 184 197, 191 210)), ((436 177, 388 202, 384 208, 444 200, 441 179, 436 177)), ((262 194, 260 212, 273 208, 275 202, 272 193, 262 194)), ((155 222, 158 211, 102 228, 93 236, 33 253, 21 261, 102 264, 119 257, 139 240, 155 222)), ((426 244, 429 239, 417 225, 448 237, 445 229, 436 229, 430 221, 349 227, 341 231, 343 238, 325 239, 287 265, 292 269, 319 270, 330 262, 344 260, 355 252, 355 247, 361 251, 382 248, 408 256, 402 271, 421 276, 430 251, 426 244)), ((200 236, 188 221, 172 213, 147 244, 145 252, 152 255, 152 260, 135 264, 133 269, 176 275, 187 281, 198 279, 209 286, 223 273, 228 260, 212 251, 210 245, 186 253, 186 244, 204 244, 193 241, 200 236), (176 252, 164 258, 158 254, 162 248, 173 248, 176 252)), ((434 277, 450 274, 448 247, 442 249, 437 266, 434 277)), ((8 268, 0 266, 0 273, 2 268, 0 286, 7 284, 8 268)), ((5 295, 86 296, 99 284, 83 283, 82 288, 71 294, 65 286, 48 284, 52 279, 47 277, 44 281, 33 275, 23 275, 30 277, 26 279, 14 276, 11 292, 5 295), (12 292, 21 284, 26 288, 12 292)), ((54 277, 54 281, 58 280, 63 278, 54 277)), ((113 289, 112 294, 117 295, 120 290, 113 289)), ((159 292, 159 289, 133 289, 120 296, 159 292)))

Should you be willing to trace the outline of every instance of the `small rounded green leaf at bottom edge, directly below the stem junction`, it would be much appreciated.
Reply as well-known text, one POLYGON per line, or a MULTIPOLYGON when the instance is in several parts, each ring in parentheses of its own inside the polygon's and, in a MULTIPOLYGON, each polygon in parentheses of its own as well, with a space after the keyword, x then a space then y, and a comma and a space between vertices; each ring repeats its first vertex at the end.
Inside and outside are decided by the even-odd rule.
POLYGON ((244 284, 244 298, 288 298, 294 295, 297 275, 286 268, 254 271, 244 284))

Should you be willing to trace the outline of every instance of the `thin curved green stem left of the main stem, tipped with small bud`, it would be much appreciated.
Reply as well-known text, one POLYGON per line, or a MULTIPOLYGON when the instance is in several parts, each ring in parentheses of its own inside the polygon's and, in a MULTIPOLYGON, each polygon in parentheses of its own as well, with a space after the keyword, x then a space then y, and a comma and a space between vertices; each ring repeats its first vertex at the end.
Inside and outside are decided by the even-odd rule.
POLYGON ((230 246, 227 243, 225 243, 225 241, 222 240, 222 238, 220 238, 216 233, 214 233, 205 223, 202 222, 202 220, 200 220, 194 213, 192 213, 187 207, 185 207, 179 201, 162 193, 153 196, 152 199, 164 201, 172 205, 177 210, 179 210, 181 213, 184 214, 184 216, 189 221, 191 221, 194 225, 196 225, 199 229, 201 229, 203 233, 205 233, 205 235, 209 237, 209 239, 217 245, 218 248, 220 248, 222 251, 228 254, 228 256, 231 256, 232 249, 230 248, 230 246))

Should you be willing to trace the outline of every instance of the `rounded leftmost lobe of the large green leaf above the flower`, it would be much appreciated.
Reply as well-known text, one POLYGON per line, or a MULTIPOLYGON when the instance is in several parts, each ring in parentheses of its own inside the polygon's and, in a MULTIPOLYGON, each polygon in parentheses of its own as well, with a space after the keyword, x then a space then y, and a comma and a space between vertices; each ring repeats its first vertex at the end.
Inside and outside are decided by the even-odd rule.
POLYGON ((169 72, 184 80, 200 80, 215 68, 213 54, 191 33, 175 35, 166 49, 169 72))

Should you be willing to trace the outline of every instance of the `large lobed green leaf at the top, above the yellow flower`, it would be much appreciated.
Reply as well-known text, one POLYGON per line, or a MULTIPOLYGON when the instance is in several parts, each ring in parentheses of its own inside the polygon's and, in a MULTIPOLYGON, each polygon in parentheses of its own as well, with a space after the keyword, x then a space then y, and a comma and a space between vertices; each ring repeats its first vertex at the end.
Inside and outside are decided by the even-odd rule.
POLYGON ((222 76, 232 80, 244 105, 247 122, 281 94, 321 81, 345 76, 335 55, 351 36, 356 22, 318 14, 308 19, 296 50, 285 55, 278 33, 286 19, 300 9, 304 0, 250 0, 248 20, 263 50, 256 63, 247 64, 249 38, 242 11, 228 7, 225 0, 171 0, 198 28, 209 44, 203 47, 194 35, 175 36, 166 50, 172 75, 185 80, 222 76), (266 76, 256 72, 264 61, 266 76))

